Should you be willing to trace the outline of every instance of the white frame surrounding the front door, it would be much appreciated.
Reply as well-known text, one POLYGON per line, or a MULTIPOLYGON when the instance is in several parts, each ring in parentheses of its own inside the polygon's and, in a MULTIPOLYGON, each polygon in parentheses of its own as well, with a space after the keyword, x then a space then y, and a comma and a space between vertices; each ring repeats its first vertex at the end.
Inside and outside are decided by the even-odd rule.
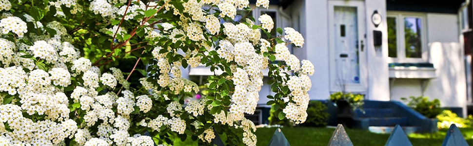
POLYGON ((346 92, 365 94, 368 81, 367 46, 366 46, 366 9, 363 0, 328 0, 328 21, 329 21, 329 64, 330 64, 330 91, 343 91, 342 84, 345 85, 346 92), (335 63, 335 6, 356 7, 358 26, 358 61, 360 72, 360 83, 337 83, 336 63, 335 63))

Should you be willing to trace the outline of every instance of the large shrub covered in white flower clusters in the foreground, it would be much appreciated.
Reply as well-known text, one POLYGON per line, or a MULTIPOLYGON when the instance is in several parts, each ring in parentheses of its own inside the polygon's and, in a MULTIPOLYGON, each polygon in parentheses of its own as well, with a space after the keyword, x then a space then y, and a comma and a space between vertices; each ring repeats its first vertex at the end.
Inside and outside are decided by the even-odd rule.
POLYGON ((304 38, 273 28, 268 15, 261 25, 233 21, 237 10, 253 8, 248 0, 0 0, 0 145, 208 145, 219 134, 226 145, 255 146, 244 114, 265 98, 266 68, 276 92, 267 104, 303 123, 314 66, 287 46, 304 38), (261 38, 272 29, 276 38, 261 38), (118 69, 125 59, 133 68, 118 69), (189 101, 199 89, 181 67, 199 65, 223 73, 189 101), (137 72, 146 77, 130 78, 137 72))

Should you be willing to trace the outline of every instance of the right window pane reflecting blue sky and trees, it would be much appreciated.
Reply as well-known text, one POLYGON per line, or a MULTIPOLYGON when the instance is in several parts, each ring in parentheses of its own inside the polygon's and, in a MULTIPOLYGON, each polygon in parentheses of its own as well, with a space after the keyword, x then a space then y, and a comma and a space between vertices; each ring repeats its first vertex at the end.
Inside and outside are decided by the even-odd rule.
POLYGON ((406 57, 422 58, 422 41, 420 35, 421 30, 422 25, 420 18, 404 18, 406 57))

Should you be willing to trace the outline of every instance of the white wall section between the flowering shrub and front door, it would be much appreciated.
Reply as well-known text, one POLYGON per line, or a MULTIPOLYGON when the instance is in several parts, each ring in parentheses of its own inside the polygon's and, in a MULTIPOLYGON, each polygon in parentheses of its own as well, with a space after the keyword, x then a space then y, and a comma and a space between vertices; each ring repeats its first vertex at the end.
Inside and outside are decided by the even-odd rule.
POLYGON ((292 4, 293 10, 300 13, 300 33, 305 44, 294 49, 299 58, 306 58, 314 64, 315 73, 310 76, 312 88, 311 99, 325 100, 330 96, 329 89, 329 46, 328 46, 328 12, 327 0, 297 0, 292 4))

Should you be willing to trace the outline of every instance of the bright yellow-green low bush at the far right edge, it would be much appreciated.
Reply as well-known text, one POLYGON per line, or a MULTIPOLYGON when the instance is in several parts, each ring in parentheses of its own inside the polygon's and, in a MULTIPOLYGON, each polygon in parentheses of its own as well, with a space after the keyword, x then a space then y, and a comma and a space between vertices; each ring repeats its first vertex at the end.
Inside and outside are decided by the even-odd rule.
POLYGON ((436 118, 438 119, 437 128, 450 128, 452 124, 459 128, 469 128, 472 126, 472 121, 467 118, 458 117, 451 110, 443 110, 436 118))

